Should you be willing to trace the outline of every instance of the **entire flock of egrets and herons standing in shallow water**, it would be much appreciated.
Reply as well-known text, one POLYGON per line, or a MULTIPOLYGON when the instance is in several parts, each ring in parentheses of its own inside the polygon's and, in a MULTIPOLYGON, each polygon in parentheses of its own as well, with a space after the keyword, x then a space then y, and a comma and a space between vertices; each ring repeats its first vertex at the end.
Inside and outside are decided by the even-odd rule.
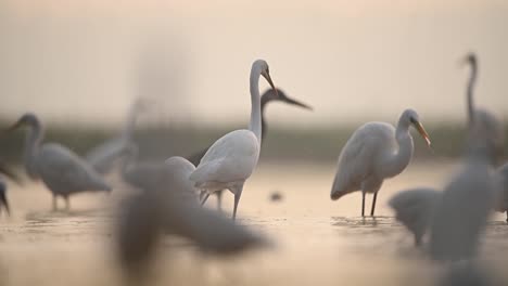
MULTIPOLYGON (((501 122, 490 112, 473 104, 478 76, 478 58, 465 57, 471 68, 467 87, 468 135, 463 164, 442 190, 415 186, 398 192, 389 200, 395 219, 414 234, 415 245, 424 246, 429 256, 439 261, 474 258, 480 236, 493 210, 508 213, 508 164, 495 170, 503 155, 501 122), (426 234, 429 234, 426 245, 426 234)), ((231 253, 271 242, 236 222, 242 193, 247 191, 255 170, 267 123, 264 110, 269 102, 282 102, 312 110, 276 88, 268 63, 257 60, 250 74, 251 117, 246 129, 233 130, 209 147, 193 155, 170 157, 162 162, 139 162, 132 133, 137 118, 150 104, 136 101, 128 114, 123 133, 94 147, 80 157, 68 147, 45 140, 42 122, 26 113, 11 127, 12 132, 26 128, 23 164, 26 174, 42 181, 53 197, 71 208, 69 197, 81 192, 111 192, 115 183, 106 174, 119 171, 132 190, 122 204, 116 225, 120 261, 130 272, 149 260, 157 240, 165 233, 183 236, 204 251, 231 253), (271 87, 261 95, 263 77, 271 87), (220 196, 229 190, 234 196, 232 220, 220 211, 220 196), (209 195, 218 196, 218 211, 204 208, 209 195)), ((366 194, 372 194, 370 216, 374 216, 378 193, 384 180, 402 173, 414 155, 414 128, 431 147, 431 136, 423 128, 419 114, 405 109, 396 126, 367 122, 356 129, 342 147, 330 198, 361 192, 361 217, 365 217, 366 194)), ((18 182, 7 168, 0 171, 18 182)), ((9 213, 7 186, 0 177, 0 210, 9 213)), ((508 216, 507 216, 508 221, 508 216)))

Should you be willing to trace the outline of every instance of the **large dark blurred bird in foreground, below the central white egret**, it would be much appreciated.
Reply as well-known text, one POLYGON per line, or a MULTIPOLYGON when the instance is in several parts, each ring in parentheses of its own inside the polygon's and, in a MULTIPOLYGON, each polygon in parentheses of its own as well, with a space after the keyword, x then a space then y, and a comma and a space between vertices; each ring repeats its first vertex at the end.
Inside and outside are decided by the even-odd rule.
POLYGON ((193 170, 187 159, 172 157, 161 164, 131 166, 124 173, 126 181, 141 191, 126 199, 118 220, 119 258, 127 270, 149 261, 163 232, 186 237, 218 255, 266 243, 220 213, 202 208, 188 180, 193 170))

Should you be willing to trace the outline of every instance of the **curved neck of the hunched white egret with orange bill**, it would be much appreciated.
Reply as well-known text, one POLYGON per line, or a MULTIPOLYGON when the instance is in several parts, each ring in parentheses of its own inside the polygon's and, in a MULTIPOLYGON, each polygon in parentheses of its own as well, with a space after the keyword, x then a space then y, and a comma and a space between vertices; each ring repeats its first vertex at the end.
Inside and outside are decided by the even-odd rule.
POLYGON ((395 140, 398 150, 390 154, 383 161, 381 169, 388 178, 399 174, 409 164, 412 157, 414 144, 409 134, 409 125, 402 119, 398 121, 395 130, 395 140))

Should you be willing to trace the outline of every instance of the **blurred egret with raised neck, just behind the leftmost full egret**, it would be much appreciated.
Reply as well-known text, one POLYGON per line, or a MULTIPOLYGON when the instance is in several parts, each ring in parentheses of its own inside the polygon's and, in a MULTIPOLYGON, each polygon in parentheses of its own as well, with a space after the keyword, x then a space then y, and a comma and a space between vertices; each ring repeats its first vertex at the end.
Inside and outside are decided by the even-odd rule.
POLYGON ((85 155, 86 160, 101 174, 109 173, 117 159, 125 156, 129 145, 134 144, 132 133, 139 114, 145 108, 145 102, 136 100, 130 107, 127 122, 119 136, 96 146, 85 155))

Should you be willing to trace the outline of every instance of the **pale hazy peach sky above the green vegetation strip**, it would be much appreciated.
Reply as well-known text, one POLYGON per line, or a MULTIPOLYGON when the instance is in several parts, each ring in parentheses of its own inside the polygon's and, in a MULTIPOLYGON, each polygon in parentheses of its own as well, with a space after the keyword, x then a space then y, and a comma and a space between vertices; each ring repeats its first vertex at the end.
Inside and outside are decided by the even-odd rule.
POLYGON ((474 50, 477 102, 508 119, 506 1, 119 4, 1 1, 0 116, 115 122, 143 95, 164 120, 246 123, 250 67, 265 58, 277 86, 315 107, 274 105, 280 125, 394 122, 406 107, 461 120, 458 60, 474 50))

